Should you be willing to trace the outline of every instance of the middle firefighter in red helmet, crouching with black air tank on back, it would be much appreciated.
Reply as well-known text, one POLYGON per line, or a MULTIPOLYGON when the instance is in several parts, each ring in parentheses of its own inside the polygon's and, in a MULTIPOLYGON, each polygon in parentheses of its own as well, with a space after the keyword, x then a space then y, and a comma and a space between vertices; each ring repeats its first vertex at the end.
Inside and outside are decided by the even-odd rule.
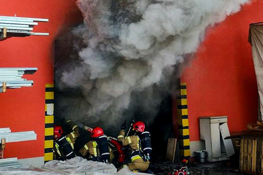
POLYGON ((110 163, 114 156, 108 146, 107 136, 104 135, 103 129, 101 127, 93 128, 91 138, 92 140, 87 142, 79 153, 83 157, 87 157, 87 160, 110 163))

